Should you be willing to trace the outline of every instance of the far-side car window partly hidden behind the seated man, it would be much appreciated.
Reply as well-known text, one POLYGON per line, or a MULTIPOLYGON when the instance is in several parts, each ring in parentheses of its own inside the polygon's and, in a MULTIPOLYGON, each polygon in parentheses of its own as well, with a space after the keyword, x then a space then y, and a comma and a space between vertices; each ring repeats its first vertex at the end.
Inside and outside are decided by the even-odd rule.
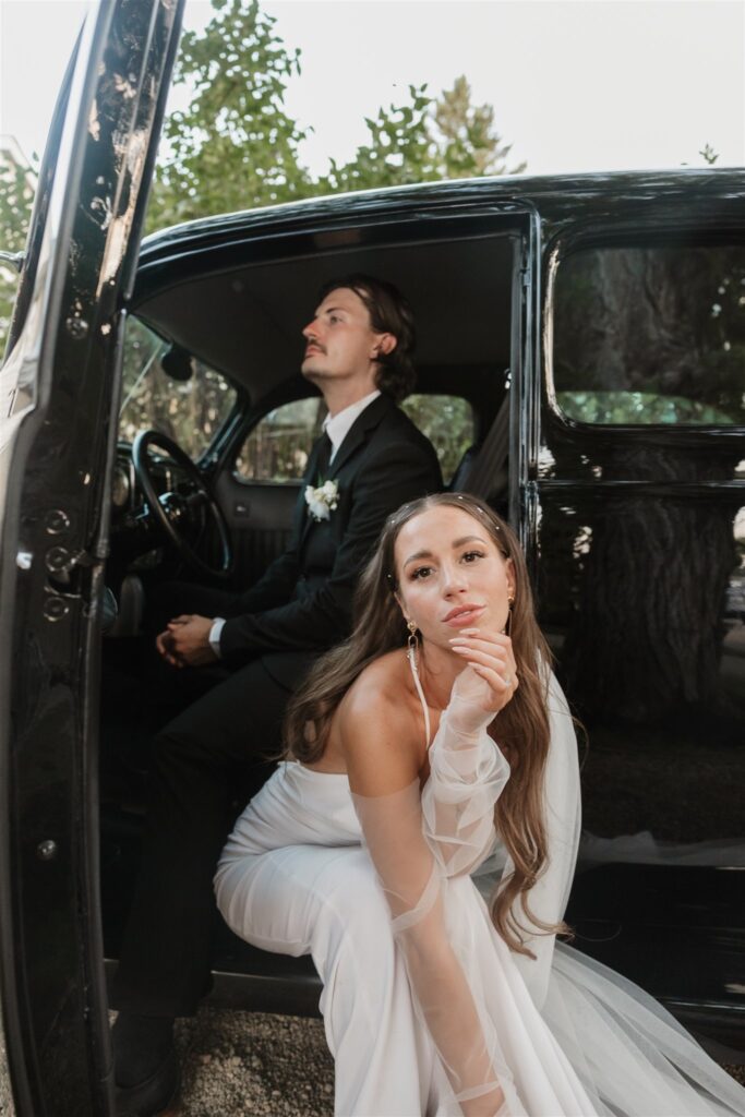
MULTIPOLYGON (((474 442, 470 403, 459 395, 409 395, 401 404, 437 450, 446 483, 474 442)), ((236 472, 251 481, 297 481, 321 433, 326 405, 318 397, 294 400, 269 411, 246 439, 236 472)))

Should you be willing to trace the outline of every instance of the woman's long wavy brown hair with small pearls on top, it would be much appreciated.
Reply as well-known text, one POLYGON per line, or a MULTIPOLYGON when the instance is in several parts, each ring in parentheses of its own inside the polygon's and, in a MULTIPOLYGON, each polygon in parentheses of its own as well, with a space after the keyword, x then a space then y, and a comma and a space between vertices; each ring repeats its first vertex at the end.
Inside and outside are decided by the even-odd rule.
POLYGON ((522 932, 553 934, 564 925, 542 923, 531 913, 527 897, 547 858, 543 809, 543 779, 548 756, 546 707, 551 651, 538 628, 533 593, 519 543, 512 528, 467 494, 440 493, 404 504, 389 517, 375 554, 365 567, 355 595, 355 624, 344 643, 323 656, 289 704, 285 722, 285 755, 312 764, 323 756, 334 710, 365 667, 407 642, 407 627, 394 598, 394 547, 399 532, 414 516, 449 506, 467 512, 486 527, 505 558, 512 558, 515 600, 512 610, 513 652, 519 687, 499 712, 493 729, 510 766, 510 776, 495 806, 495 825, 515 866, 491 901, 495 927, 513 951, 532 952, 522 932), (529 928, 516 918, 517 903, 529 928))

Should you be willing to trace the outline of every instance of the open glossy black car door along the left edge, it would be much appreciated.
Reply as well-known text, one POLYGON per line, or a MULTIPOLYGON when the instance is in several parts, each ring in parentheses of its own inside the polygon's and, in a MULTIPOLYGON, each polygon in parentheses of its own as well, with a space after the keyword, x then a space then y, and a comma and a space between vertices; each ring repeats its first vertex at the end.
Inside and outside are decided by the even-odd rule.
POLYGON ((0 370, 0 982, 19 1117, 111 1111, 95 695, 121 333, 181 0, 90 11, 0 370))

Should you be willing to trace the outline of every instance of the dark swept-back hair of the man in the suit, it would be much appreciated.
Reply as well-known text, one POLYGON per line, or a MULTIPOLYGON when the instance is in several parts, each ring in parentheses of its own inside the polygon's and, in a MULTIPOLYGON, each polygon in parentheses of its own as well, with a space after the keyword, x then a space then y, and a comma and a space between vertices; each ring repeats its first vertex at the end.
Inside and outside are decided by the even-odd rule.
POLYGON ((414 317, 411 307, 392 283, 362 273, 353 273, 324 284, 319 302, 323 303, 326 295, 340 287, 353 290, 362 299, 375 333, 393 334, 395 337, 395 349, 391 353, 381 353, 376 359, 379 369, 375 383, 381 392, 392 395, 400 403, 412 391, 417 379, 413 363, 414 317))

